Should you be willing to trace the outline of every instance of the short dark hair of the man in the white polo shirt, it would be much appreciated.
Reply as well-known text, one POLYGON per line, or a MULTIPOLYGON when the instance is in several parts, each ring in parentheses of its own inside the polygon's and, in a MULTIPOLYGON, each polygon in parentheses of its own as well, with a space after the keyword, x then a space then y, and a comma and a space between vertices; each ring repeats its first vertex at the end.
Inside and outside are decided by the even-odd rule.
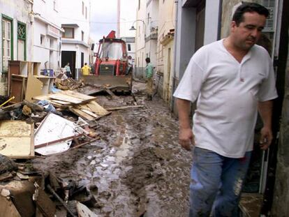
POLYGON ((244 13, 247 12, 249 13, 256 12, 260 15, 264 15, 266 18, 269 16, 269 10, 264 6, 261 6, 258 3, 244 2, 236 9, 232 17, 232 21, 235 21, 237 26, 239 26, 239 24, 244 21, 244 13))

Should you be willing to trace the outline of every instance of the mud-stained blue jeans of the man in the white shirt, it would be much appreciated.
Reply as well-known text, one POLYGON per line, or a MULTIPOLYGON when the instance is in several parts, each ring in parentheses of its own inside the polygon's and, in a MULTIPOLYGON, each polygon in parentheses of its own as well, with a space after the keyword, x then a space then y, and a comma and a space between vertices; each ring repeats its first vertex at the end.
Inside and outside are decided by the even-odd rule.
POLYGON ((239 197, 251 158, 227 158, 195 147, 191 168, 190 217, 237 216, 239 197))

